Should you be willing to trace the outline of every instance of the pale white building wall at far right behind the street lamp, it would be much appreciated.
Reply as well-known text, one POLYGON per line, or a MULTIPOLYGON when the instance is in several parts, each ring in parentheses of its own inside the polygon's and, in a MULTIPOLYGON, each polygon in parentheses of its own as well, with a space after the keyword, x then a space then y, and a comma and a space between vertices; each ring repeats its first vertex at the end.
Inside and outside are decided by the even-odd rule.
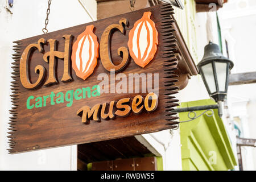
MULTIPOLYGON (((255 72, 256 1, 233 0, 219 11, 222 36, 228 41, 232 73, 255 72)), ((256 84, 229 86, 230 118, 241 119, 242 136, 256 139, 256 84)), ((256 148, 242 147, 244 170, 256 170, 256 148)))

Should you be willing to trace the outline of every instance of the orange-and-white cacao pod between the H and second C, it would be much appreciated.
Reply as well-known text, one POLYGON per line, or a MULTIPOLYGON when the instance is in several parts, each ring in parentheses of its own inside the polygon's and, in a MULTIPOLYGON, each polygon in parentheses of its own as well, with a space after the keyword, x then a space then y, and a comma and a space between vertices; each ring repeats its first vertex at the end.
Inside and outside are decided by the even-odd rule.
POLYGON ((86 26, 72 47, 72 68, 83 80, 92 75, 98 63, 99 44, 97 36, 93 34, 93 28, 93 25, 86 26))

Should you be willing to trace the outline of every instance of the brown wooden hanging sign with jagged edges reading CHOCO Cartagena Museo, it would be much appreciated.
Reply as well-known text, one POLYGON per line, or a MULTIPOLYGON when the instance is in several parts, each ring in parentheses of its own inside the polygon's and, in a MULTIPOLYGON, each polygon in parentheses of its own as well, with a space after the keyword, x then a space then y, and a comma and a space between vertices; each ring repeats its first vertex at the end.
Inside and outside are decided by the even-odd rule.
POLYGON ((10 153, 176 127, 172 11, 159 5, 14 42, 10 153))

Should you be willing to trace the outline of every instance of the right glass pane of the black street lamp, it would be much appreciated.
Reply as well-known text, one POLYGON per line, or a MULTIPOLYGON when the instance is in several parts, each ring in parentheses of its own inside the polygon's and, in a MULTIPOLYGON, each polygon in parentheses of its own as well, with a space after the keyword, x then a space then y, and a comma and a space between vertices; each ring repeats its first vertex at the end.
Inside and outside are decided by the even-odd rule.
POLYGON ((218 89, 221 92, 225 92, 226 88, 226 67, 228 64, 215 62, 216 75, 218 80, 218 89))

